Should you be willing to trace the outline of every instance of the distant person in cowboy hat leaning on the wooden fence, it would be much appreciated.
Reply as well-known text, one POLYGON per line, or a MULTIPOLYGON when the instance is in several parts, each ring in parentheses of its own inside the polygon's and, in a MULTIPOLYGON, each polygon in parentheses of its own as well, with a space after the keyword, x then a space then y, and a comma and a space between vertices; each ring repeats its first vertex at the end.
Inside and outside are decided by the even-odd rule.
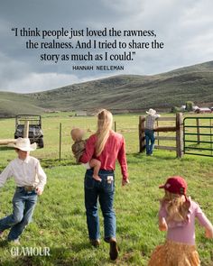
POLYGON ((158 119, 161 115, 157 115, 156 111, 152 108, 146 112, 145 118, 145 148, 146 148, 146 155, 153 155, 153 147, 154 147, 154 123, 155 120, 158 119), (150 144, 151 142, 151 144, 150 144))

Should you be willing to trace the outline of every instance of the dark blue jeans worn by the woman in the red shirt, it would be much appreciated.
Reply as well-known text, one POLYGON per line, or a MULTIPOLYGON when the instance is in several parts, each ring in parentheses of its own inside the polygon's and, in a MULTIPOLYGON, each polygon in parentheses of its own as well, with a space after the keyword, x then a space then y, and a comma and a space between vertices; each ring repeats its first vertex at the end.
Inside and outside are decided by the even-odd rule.
POLYGON ((88 224, 88 236, 91 240, 100 238, 97 198, 104 216, 105 240, 116 238, 116 214, 113 209, 115 176, 114 171, 100 170, 98 175, 101 182, 92 178, 93 170, 85 174, 85 206, 88 224), (113 177, 112 179, 109 177, 113 177))

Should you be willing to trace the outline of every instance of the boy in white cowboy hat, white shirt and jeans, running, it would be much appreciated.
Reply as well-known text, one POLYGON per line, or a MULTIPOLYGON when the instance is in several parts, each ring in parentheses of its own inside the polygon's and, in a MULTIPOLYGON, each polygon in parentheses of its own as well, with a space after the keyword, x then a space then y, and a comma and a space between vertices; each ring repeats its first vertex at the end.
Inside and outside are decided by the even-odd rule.
POLYGON ((17 186, 13 198, 14 211, 0 219, 0 236, 10 228, 8 241, 19 244, 19 237, 31 222, 37 197, 42 194, 47 178, 40 162, 30 156, 30 151, 36 150, 36 143, 31 144, 28 138, 18 138, 13 147, 18 156, 0 174, 0 187, 4 186, 6 179, 14 177, 17 186))

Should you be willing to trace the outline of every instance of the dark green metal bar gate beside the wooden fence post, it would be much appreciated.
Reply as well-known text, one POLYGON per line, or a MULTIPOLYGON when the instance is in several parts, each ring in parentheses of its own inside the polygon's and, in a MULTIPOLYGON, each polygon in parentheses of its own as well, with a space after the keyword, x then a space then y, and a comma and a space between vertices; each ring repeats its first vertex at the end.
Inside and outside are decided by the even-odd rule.
POLYGON ((185 154, 213 157, 213 116, 183 119, 183 147, 185 154))

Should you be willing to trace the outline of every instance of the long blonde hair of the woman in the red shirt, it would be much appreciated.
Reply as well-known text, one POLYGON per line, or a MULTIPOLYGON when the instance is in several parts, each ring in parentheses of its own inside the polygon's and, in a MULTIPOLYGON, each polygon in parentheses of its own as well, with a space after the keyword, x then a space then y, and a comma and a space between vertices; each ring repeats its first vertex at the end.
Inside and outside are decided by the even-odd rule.
POLYGON ((99 156, 104 150, 109 133, 113 124, 113 115, 106 109, 102 109, 97 114, 97 143, 96 155, 99 156))

